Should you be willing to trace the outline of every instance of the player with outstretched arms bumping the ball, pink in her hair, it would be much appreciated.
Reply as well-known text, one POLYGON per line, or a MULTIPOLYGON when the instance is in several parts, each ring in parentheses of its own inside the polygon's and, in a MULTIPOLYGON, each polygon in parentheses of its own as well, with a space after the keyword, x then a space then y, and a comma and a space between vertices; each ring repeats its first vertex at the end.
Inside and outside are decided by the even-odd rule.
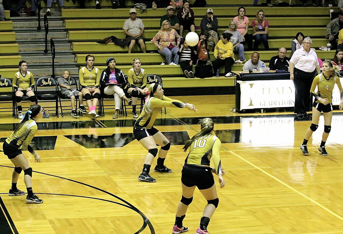
POLYGON ((143 171, 138 179, 144 182, 156 182, 156 179, 149 175, 152 161, 158 152, 156 143, 161 145, 161 149, 158 152, 155 172, 171 172, 171 169, 164 165, 164 160, 170 148, 170 142, 160 131, 153 127, 157 115, 161 113, 162 107, 187 108, 194 112, 197 109, 192 104, 183 103, 164 96, 162 86, 159 84, 150 84, 148 93, 149 95, 146 98, 142 113, 133 126, 133 135, 148 150, 144 159, 143 171))

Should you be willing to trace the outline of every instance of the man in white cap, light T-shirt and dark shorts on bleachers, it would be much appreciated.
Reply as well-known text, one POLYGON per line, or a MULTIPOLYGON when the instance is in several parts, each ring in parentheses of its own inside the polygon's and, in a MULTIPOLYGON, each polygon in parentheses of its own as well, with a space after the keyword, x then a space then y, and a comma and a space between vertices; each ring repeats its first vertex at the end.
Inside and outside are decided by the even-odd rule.
POLYGON ((130 18, 127 19, 124 23, 123 30, 125 37, 125 42, 129 47, 128 53, 131 53, 131 50, 135 43, 138 43, 143 53, 146 52, 145 50, 145 42, 142 37, 144 33, 144 24, 143 21, 139 18, 136 18, 137 11, 134 8, 130 9, 130 18))

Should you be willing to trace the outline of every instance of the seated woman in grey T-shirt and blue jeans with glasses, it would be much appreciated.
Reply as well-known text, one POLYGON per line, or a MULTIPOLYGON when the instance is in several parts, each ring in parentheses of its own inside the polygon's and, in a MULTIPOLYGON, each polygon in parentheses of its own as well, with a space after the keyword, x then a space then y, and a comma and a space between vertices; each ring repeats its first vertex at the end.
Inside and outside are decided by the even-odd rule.
POLYGON ((232 34, 230 42, 233 45, 234 53, 238 54, 238 57, 239 57, 239 59, 235 62, 237 62, 237 63, 246 62, 247 60, 245 60, 245 58, 244 58, 244 46, 243 46, 243 44, 241 44, 241 42, 243 42, 243 36, 237 30, 236 21, 234 21, 234 20, 230 21, 229 29, 226 30, 224 33, 232 34))

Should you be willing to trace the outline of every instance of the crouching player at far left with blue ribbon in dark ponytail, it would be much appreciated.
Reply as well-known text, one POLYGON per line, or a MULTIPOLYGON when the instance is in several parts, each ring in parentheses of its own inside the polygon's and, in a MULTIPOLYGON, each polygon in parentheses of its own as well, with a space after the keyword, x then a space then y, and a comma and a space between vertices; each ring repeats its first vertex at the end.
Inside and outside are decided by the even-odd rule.
POLYGON ((25 192, 17 189, 17 181, 19 174, 24 170, 24 182, 27 189, 27 203, 42 203, 32 191, 32 168, 28 164, 25 155, 22 152, 22 146, 27 147, 28 151, 35 156, 35 162, 40 162, 39 155, 29 145, 32 138, 37 132, 37 124, 40 118, 43 117, 43 109, 40 105, 34 104, 28 108, 24 114, 22 121, 15 127, 14 132, 5 140, 2 145, 3 153, 14 164, 12 173, 12 187, 8 193, 9 196, 25 195, 25 192))

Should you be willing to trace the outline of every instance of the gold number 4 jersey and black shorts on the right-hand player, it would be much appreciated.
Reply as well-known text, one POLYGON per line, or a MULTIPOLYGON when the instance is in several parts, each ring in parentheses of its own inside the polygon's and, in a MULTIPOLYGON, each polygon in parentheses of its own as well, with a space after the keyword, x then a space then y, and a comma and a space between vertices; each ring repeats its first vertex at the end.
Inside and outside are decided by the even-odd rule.
POLYGON ((332 90, 335 86, 338 85, 339 89, 342 90, 342 85, 340 79, 335 75, 334 77, 330 77, 327 79, 323 73, 317 75, 312 82, 311 86, 311 95, 316 98, 315 102, 313 103, 313 107, 315 107, 319 112, 330 112, 332 110, 332 90), (316 86, 318 85, 318 92, 315 92, 316 86), (327 98, 329 104, 324 105, 319 101, 319 98, 327 98))

